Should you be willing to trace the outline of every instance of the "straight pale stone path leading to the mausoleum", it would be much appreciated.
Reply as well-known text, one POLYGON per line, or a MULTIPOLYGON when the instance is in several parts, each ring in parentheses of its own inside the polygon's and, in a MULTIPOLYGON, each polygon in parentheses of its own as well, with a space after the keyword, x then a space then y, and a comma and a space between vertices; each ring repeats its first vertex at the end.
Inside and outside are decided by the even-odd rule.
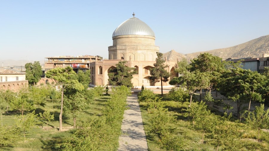
POLYGON ((123 135, 119 138, 118 151, 124 150, 148 150, 146 134, 144 131, 141 111, 137 101, 137 95, 127 97, 129 109, 125 110, 121 125, 123 135))

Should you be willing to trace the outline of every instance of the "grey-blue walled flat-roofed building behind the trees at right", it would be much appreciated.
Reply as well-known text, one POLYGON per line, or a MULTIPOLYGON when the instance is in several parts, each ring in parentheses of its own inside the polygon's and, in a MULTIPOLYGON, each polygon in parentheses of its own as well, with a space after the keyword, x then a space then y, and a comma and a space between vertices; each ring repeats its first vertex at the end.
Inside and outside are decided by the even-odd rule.
POLYGON ((259 59, 260 58, 251 58, 251 57, 248 57, 248 58, 239 58, 239 59, 232 59, 232 58, 229 58, 227 60, 224 60, 224 61, 233 61, 233 62, 237 62, 239 60, 242 60, 242 69, 250 69, 251 71, 258 71, 259 72, 259 59))

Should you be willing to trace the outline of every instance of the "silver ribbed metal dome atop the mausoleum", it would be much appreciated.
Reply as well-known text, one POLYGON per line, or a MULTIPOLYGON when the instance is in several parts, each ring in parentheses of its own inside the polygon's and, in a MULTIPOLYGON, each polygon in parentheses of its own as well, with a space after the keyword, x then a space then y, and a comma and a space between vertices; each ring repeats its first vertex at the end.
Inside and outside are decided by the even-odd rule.
POLYGON ((132 17, 115 29, 112 37, 120 35, 147 35, 155 37, 152 29, 138 18, 132 17))

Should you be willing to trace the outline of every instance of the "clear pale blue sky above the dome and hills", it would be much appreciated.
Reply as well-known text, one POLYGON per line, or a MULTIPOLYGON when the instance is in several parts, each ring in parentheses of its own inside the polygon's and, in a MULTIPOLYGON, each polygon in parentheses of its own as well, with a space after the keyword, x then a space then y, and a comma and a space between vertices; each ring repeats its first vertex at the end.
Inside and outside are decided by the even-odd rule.
POLYGON ((112 33, 135 17, 165 53, 234 46, 269 34, 268 0, 0 0, 0 60, 59 55, 108 57, 112 33))

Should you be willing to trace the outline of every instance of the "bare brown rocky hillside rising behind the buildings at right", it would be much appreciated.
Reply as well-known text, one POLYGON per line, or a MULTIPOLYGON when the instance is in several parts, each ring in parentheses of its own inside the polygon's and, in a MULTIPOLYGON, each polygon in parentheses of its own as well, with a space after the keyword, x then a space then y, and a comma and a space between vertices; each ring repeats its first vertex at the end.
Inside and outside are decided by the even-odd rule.
MULTIPOLYGON (((170 53, 170 52, 167 52, 167 53, 170 53)), ((263 53, 269 53, 269 35, 253 39, 251 41, 248 41, 246 43, 242 43, 236 46, 222 48, 222 49, 215 49, 215 50, 210 50, 210 51, 205 51, 205 52, 209 52, 212 55, 221 57, 223 59, 262 57, 263 53)), ((190 60, 197 57, 200 53, 204 53, 204 52, 194 52, 194 53, 186 54, 185 57, 187 57, 187 60, 190 60)), ((167 59, 168 59, 168 56, 167 56, 167 59)), ((177 60, 175 57, 171 57, 171 60, 172 59, 177 60)))

